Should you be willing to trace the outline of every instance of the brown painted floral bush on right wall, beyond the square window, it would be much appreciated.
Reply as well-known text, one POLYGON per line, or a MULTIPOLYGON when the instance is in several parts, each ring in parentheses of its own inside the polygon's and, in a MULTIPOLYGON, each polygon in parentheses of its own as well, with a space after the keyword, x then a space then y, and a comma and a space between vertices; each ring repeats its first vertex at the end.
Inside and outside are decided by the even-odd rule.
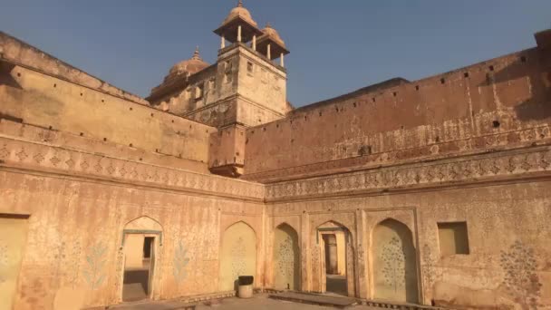
POLYGON ((536 273, 534 249, 517 240, 508 251, 501 252, 500 265, 505 271, 503 284, 522 309, 537 309, 542 285, 536 273))

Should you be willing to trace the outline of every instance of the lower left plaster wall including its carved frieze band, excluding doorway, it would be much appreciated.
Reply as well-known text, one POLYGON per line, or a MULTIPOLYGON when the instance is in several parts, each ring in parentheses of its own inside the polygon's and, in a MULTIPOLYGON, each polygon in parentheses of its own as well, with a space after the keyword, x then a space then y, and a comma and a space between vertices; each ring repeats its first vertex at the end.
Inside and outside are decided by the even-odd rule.
MULTIPOLYGON (((122 232, 135 218, 162 227, 155 299, 219 292, 221 222, 251 218, 263 230, 256 184, 43 143, 0 145, 0 213, 30 216, 16 309, 119 303, 122 232)), ((262 233, 258 240, 262 248, 262 233)))

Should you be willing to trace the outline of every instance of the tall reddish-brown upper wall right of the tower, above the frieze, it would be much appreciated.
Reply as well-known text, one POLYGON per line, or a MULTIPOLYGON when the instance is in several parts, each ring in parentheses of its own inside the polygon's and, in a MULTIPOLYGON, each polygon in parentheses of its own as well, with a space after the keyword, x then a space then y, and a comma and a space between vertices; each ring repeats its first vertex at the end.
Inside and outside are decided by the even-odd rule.
POLYGON ((247 130, 245 178, 276 181, 549 138, 551 70, 538 48, 301 108, 247 130))

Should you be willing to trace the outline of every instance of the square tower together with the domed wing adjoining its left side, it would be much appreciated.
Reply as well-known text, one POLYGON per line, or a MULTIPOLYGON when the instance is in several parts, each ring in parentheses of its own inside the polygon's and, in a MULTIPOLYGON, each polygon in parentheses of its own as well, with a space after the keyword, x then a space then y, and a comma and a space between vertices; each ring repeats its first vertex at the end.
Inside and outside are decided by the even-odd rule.
POLYGON ((217 128, 257 126, 288 110, 285 42, 269 25, 258 28, 242 1, 214 31, 221 38, 217 63, 198 51, 172 67, 148 97, 151 105, 217 128), (279 59, 277 62, 276 60, 279 59))

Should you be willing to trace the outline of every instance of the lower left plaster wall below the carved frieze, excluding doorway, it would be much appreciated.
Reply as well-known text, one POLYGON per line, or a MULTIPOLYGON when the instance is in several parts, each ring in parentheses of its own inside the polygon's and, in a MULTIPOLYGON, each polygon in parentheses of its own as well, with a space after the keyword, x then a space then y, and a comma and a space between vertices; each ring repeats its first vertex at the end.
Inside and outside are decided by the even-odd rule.
POLYGON ((2 212, 31 215, 17 309, 51 309, 63 287, 85 290, 87 306, 120 302, 122 228, 141 216, 155 218, 164 231, 154 298, 218 292, 220 212, 246 208, 254 215, 261 209, 240 201, 19 173, 2 172, 1 179, 2 212))

